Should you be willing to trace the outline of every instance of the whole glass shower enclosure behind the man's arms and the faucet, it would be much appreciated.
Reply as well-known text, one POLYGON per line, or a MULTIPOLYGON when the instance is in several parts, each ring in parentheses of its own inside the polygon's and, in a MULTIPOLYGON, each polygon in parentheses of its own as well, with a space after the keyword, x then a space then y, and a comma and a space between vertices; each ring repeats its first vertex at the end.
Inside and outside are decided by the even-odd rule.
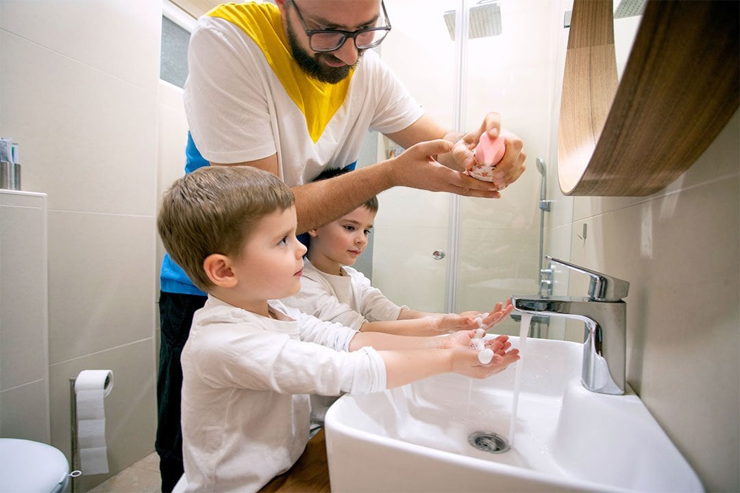
MULTIPOLYGON (((572 200, 556 186, 556 166, 548 166, 557 157, 559 74, 568 35, 562 3, 388 3, 393 30, 381 58, 425 112, 466 132, 477 129, 486 113, 498 112, 502 127, 522 139, 527 154, 527 171, 500 200, 411 188, 380 194, 372 280, 397 304, 433 312, 487 311, 514 293, 539 291, 540 242, 545 254, 570 258, 570 242, 548 242, 548 232, 568 227, 572 215, 572 200), (548 197, 541 197, 545 179, 551 186, 548 197)), ((399 151, 380 136, 379 160, 399 151)), ((566 289, 555 285, 556 293, 566 289)), ((562 337, 561 329, 548 329, 542 336, 562 337)), ((496 331, 518 334, 518 323, 508 319, 496 331)))

